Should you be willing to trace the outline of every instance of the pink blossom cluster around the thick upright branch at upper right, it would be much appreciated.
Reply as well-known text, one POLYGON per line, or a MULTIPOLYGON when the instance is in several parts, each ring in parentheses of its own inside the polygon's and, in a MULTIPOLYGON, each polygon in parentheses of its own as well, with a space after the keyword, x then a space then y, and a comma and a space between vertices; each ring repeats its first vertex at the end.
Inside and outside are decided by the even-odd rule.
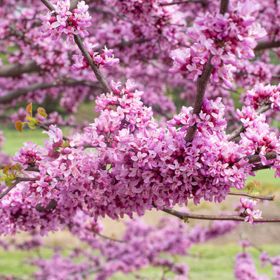
POLYGON ((242 60, 254 57, 257 39, 266 34, 255 22, 256 7, 249 2, 237 5, 225 15, 206 13, 197 17, 193 27, 188 29, 188 36, 194 43, 171 54, 173 70, 197 80, 207 61, 211 60, 212 81, 222 81, 231 87, 232 74, 241 67, 242 60))

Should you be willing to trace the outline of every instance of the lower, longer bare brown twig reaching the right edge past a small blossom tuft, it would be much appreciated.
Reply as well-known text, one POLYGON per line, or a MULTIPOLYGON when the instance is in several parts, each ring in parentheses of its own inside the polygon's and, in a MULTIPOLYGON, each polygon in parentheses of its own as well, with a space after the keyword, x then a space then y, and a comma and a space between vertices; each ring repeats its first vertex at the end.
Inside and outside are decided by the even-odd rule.
MULTIPOLYGON (((207 220, 207 221, 236 221, 236 222, 245 222, 245 217, 238 215, 205 215, 205 214, 193 214, 180 212, 173 209, 163 209, 163 212, 175 216, 183 221, 188 219, 195 220, 207 220)), ((280 223, 280 218, 260 218, 254 220, 254 223, 280 223)))

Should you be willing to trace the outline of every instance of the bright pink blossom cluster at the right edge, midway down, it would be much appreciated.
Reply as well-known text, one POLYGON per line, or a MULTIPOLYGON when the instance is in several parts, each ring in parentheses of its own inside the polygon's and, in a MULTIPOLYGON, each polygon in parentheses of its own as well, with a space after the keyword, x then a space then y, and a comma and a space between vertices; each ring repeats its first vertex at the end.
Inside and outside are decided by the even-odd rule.
POLYGON ((256 85, 245 93, 245 105, 237 111, 237 116, 243 126, 240 133, 240 145, 246 147, 248 155, 258 155, 262 165, 274 166, 276 174, 279 170, 278 161, 269 159, 266 155, 272 152, 279 154, 279 135, 269 125, 264 112, 270 108, 278 111, 279 93, 278 86, 256 85))

